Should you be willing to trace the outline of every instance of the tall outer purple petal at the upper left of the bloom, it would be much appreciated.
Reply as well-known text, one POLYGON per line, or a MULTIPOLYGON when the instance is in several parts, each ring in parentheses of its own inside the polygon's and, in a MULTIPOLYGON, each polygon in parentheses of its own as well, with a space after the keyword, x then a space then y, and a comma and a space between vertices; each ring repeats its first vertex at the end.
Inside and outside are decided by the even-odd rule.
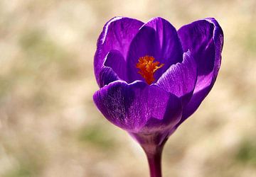
POLYGON ((95 76, 99 85, 102 82, 100 72, 107 53, 111 50, 118 50, 126 59, 129 44, 143 24, 141 21, 126 17, 114 17, 105 24, 97 41, 94 60, 95 76))

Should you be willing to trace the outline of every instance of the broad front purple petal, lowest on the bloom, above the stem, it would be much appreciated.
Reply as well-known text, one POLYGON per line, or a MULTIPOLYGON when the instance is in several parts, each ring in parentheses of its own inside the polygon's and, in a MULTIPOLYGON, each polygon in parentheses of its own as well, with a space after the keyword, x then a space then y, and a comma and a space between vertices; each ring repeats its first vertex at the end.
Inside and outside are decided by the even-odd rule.
POLYGON ((171 130, 181 119, 179 98, 142 81, 112 82, 97 91, 93 99, 105 118, 128 132, 171 130))

